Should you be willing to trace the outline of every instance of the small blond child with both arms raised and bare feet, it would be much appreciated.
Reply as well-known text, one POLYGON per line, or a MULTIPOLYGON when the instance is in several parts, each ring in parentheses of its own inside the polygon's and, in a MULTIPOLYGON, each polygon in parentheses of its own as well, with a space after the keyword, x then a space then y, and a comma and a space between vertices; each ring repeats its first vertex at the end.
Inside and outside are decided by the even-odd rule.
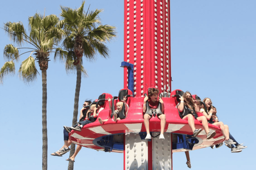
MULTIPOLYGON (((108 98, 108 104, 109 104, 109 108, 111 108, 111 99, 110 97, 108 98)), ((116 122, 116 121, 120 121, 121 119, 119 118, 119 112, 122 110, 123 108, 123 104, 125 104, 125 110, 124 110, 124 116, 127 115, 127 112, 128 112, 128 104, 126 103, 126 97, 124 96, 123 100, 121 100, 120 102, 117 102, 116 103, 116 110, 115 110, 115 113, 113 115, 113 121, 116 122)), ((105 120, 102 120, 101 118, 98 118, 98 121, 100 124, 103 124, 103 122, 106 122, 108 119, 105 119, 105 120)))

